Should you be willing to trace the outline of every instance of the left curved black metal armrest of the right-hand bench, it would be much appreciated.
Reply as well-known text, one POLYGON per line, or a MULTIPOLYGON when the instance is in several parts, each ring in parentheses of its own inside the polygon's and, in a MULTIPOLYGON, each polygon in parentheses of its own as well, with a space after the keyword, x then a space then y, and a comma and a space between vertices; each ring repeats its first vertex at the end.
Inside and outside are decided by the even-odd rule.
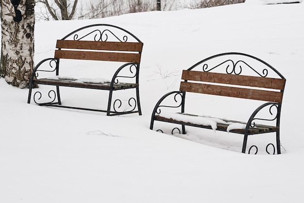
MULTIPOLYGON (((172 100, 171 100, 172 101, 172 100)), ((154 124, 154 119, 155 119, 155 114, 160 114, 161 113, 161 108, 181 108, 179 113, 184 113, 185 111, 185 92, 183 91, 172 91, 167 94, 165 94, 155 105, 153 112, 152 112, 152 117, 151 117, 151 124, 150 124, 150 129, 153 129, 153 124, 154 124), (163 101, 168 100, 169 97, 172 97, 170 99, 173 99, 173 102, 175 105, 163 105, 163 101), (181 97, 180 101, 177 97, 181 97)))

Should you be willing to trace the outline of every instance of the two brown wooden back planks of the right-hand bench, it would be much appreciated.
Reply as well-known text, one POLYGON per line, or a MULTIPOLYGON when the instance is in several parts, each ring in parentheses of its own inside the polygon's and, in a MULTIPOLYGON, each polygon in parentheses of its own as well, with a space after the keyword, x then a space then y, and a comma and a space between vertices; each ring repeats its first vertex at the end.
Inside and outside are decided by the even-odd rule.
POLYGON ((272 101, 279 103, 282 102, 283 90, 286 82, 285 79, 231 75, 231 74, 192 71, 192 70, 183 70, 182 79, 188 80, 189 82, 188 81, 181 82, 180 91, 244 98, 251 100, 260 100, 260 101, 272 101), (195 83, 192 81, 198 81, 203 83, 195 83), (215 83, 216 85, 210 83, 215 83), (238 85, 245 87, 236 87, 231 85, 238 85), (268 88, 271 90, 246 88, 246 86, 268 88), (281 90, 281 91, 274 91, 274 90, 281 90))

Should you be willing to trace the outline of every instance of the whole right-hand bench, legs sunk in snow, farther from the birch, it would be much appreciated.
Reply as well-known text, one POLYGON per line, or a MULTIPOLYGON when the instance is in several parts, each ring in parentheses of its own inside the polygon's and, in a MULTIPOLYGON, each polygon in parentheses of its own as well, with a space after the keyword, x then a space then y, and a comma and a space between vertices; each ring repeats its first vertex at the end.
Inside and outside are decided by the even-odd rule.
MULTIPOLYGON (((183 134, 186 134, 185 126, 242 134, 244 135, 241 151, 243 153, 246 152, 248 135, 275 133, 276 150, 280 154, 280 116, 285 83, 286 79, 275 68, 251 55, 230 52, 211 56, 183 70, 180 91, 169 92, 156 103, 152 112, 150 129, 153 129, 154 121, 162 121, 181 124, 183 134), (247 62, 248 60, 250 62, 247 62), (255 65, 252 66, 251 63, 255 65), (194 68, 202 68, 203 71, 193 70, 194 68), (270 74, 271 77, 267 77, 270 74), (272 78, 272 76, 275 77, 272 78), (185 113, 186 92, 262 101, 260 102, 262 105, 259 104, 246 122, 203 117, 185 113), (177 108, 179 111, 167 113, 172 108, 177 108), (262 110, 267 110, 266 112, 270 115, 264 113, 265 118, 256 117, 262 110), (257 124, 256 121, 261 124, 257 124), (266 125, 265 123, 268 122, 273 124, 266 125)), ((220 97, 214 99, 220 99, 220 97)), ((203 101, 204 98, 200 100, 202 105, 203 101)), ((240 106, 246 106, 245 102, 241 100, 240 106)), ((216 110, 217 106, 211 104, 208 108, 216 110)), ((240 110, 241 108, 236 111, 240 110)), ((270 146, 273 147, 273 153, 275 153, 273 144, 267 145, 266 151, 270 153, 268 149, 270 146)), ((253 145, 248 153, 252 148, 256 148, 257 152, 257 147, 253 145)))

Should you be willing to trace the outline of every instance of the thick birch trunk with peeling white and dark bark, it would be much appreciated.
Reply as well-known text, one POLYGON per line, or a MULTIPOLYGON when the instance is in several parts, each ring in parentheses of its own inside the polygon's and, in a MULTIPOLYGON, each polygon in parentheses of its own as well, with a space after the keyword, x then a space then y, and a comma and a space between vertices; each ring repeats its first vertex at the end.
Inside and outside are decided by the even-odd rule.
POLYGON ((35 0, 0 0, 0 76, 8 84, 27 88, 34 67, 35 0))

